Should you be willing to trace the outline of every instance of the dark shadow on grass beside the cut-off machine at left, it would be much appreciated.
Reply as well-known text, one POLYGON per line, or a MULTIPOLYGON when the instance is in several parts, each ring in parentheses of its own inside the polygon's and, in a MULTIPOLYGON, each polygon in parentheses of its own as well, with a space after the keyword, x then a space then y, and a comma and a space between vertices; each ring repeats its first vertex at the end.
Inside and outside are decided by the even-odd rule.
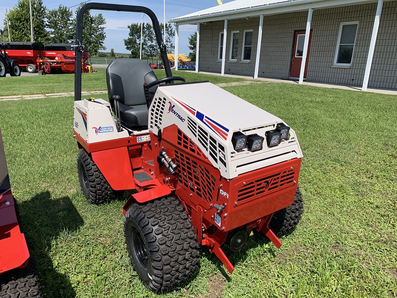
POLYGON ((56 270, 51 259, 51 242, 65 232, 76 231, 84 222, 69 197, 51 198, 49 191, 18 203, 30 255, 35 259, 44 297, 75 297, 66 274, 56 270))

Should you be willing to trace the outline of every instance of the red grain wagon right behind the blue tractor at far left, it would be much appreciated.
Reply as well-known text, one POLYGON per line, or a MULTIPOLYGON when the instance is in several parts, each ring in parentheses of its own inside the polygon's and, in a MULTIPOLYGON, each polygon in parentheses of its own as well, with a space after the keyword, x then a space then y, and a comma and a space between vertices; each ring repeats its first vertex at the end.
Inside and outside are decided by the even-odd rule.
POLYGON ((28 73, 36 73, 37 60, 45 57, 44 45, 40 42, 2 42, 1 44, 9 44, 6 50, 8 58, 16 60, 28 73))

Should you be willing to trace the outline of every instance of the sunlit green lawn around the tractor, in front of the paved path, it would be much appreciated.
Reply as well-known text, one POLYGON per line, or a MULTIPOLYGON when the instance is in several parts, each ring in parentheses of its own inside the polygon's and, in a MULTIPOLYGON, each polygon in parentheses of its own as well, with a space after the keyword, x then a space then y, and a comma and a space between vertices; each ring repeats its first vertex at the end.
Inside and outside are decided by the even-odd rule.
MULTIPOLYGON (((225 89, 297 132, 305 212, 279 250, 255 235, 248 251, 227 251, 232 274, 203 248, 197 276, 161 297, 396 297, 397 96, 276 83, 225 89)), ((45 297, 157 297, 129 265, 126 197, 90 206, 80 191, 72 105, 0 102, 12 190, 45 297)))

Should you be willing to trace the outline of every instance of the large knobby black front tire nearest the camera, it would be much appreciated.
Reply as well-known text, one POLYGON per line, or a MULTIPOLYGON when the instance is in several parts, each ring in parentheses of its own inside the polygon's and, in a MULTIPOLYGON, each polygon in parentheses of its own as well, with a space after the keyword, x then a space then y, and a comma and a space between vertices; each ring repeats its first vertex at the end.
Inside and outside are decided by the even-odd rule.
POLYGON ((155 293, 177 287, 199 267, 197 235, 175 197, 132 204, 124 219, 124 236, 136 273, 155 293))

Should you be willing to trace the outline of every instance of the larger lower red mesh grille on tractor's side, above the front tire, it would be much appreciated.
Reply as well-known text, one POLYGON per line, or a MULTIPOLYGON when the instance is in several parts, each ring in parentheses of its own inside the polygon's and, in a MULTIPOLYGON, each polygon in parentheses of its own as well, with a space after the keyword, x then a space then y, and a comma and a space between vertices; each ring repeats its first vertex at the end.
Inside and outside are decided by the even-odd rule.
POLYGON ((179 182, 204 201, 211 202, 215 190, 215 177, 193 158, 178 150, 175 150, 175 159, 180 166, 179 182))

